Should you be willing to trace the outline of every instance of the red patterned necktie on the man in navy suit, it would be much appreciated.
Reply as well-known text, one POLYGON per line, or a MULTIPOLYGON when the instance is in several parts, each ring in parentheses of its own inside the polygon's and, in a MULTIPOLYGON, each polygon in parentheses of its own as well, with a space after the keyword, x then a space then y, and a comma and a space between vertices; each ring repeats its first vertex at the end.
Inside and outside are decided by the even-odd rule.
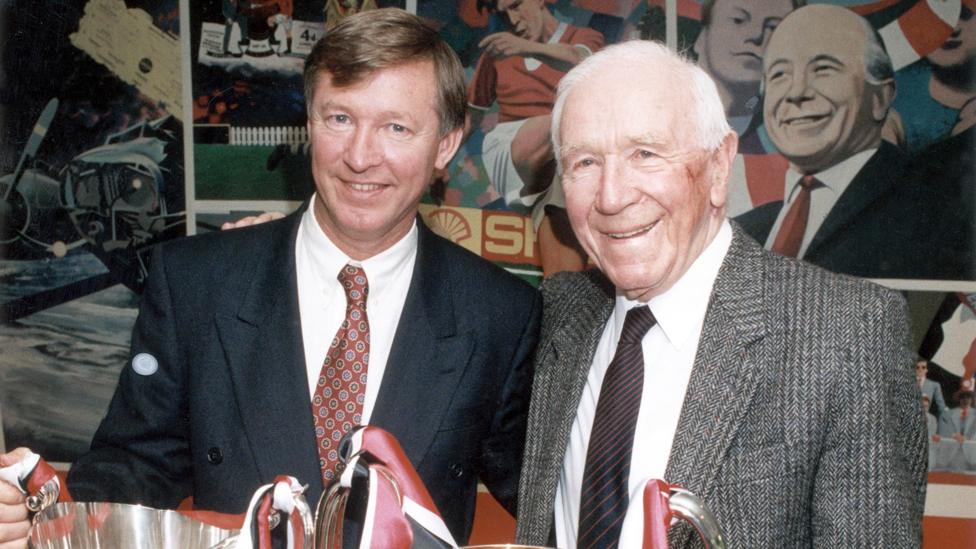
POLYGON ((342 435, 362 422, 369 364, 369 321, 366 319, 369 283, 366 273, 362 267, 346 265, 339 272, 339 282, 346 291, 346 318, 332 339, 312 397, 319 467, 324 483, 336 476, 342 435))

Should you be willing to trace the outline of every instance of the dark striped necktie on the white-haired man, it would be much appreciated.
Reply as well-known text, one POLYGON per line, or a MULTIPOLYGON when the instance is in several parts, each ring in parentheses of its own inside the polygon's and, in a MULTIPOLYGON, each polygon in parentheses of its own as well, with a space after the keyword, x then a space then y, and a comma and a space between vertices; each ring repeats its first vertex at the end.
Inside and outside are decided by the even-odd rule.
POLYGON ((630 456, 644 390, 641 340, 654 326, 647 306, 627 311, 617 351, 607 367, 586 449, 577 547, 616 547, 627 512, 630 456))

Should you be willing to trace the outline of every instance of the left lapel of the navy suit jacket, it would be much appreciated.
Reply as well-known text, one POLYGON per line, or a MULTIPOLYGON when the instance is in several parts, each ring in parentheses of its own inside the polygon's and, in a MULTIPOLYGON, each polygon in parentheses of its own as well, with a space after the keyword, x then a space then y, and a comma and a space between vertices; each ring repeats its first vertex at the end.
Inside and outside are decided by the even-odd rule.
POLYGON ((318 453, 295 273, 295 238, 304 210, 269 228, 260 243, 266 248, 255 251, 266 260, 247 266, 243 272, 251 282, 239 306, 215 322, 243 434, 262 480, 292 474, 310 482, 309 497, 317 498, 321 484, 311 481, 319 476, 318 453))

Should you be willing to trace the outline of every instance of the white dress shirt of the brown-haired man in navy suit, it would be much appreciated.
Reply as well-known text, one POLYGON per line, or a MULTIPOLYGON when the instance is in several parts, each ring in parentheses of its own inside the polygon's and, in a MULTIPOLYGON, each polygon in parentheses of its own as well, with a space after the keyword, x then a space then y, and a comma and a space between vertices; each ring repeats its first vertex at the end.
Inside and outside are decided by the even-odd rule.
POLYGON ((363 424, 366 424, 376 404, 393 336, 413 278, 413 266, 417 259, 417 225, 415 222, 406 236, 383 252, 364 261, 353 261, 322 232, 312 212, 316 207, 319 207, 318 201, 313 197, 302 216, 295 241, 298 306, 308 393, 311 396, 315 392, 329 345, 346 317, 346 292, 337 278, 339 271, 349 263, 361 266, 369 281, 369 295, 366 298, 369 365, 366 402, 363 404, 363 424))

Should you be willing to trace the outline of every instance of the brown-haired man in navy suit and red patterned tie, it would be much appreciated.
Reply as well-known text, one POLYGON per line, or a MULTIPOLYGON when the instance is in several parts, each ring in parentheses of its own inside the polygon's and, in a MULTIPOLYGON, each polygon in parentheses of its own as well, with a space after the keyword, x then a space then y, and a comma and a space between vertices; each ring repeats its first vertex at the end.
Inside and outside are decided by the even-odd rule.
MULTIPOLYGON (((339 439, 368 423, 399 439, 463 542, 479 477, 514 503, 539 307, 418 222, 460 142, 460 62, 416 16, 370 11, 316 44, 305 89, 314 197, 156 251, 131 367, 68 486, 239 513, 290 474, 316 502, 339 439)), ((22 501, 0 483, 0 543, 23 544, 22 501)))

